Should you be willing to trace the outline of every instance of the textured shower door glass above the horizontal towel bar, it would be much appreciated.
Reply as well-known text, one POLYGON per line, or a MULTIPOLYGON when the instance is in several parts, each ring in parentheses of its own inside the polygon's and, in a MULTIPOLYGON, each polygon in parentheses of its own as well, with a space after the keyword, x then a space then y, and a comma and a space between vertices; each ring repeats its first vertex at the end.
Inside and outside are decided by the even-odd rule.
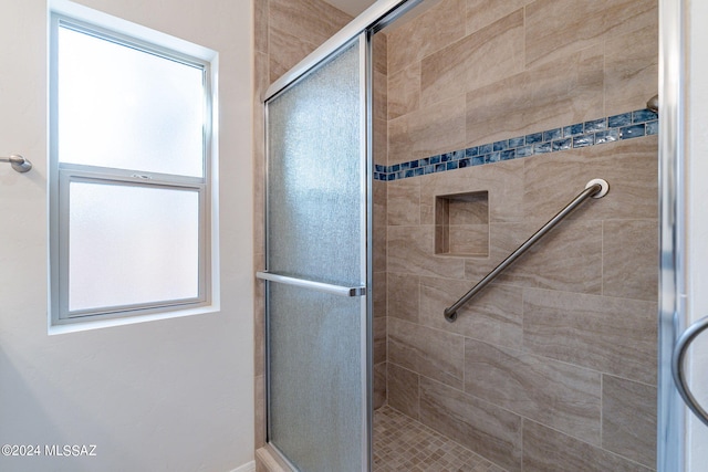
POLYGON ((269 104, 269 270, 362 281, 358 49, 269 104))

